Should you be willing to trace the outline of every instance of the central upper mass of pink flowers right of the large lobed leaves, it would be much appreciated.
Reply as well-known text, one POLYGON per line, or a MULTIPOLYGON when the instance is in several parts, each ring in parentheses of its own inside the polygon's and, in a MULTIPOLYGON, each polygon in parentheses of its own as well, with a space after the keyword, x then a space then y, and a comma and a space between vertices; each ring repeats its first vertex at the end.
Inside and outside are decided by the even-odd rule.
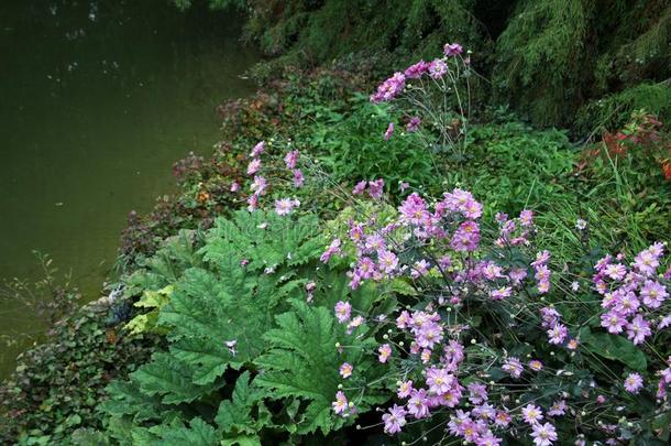
MULTIPOLYGON (((370 183, 371 188, 373 183, 370 183)), ((366 184, 366 182, 359 183, 353 193, 362 194, 366 184)), ((371 191, 371 196, 378 197, 380 194, 371 191)), ((408 275, 417 281, 427 275, 439 274, 457 283, 476 284, 476 291, 486 291, 487 300, 503 301, 524 285, 522 280, 528 272, 522 268, 506 270, 491 260, 473 261, 469 270, 452 268, 453 255, 469 254, 480 247, 481 228, 477 220, 482 216, 483 206, 471 193, 462 189, 446 193, 443 199, 436 203, 432 208, 419 194, 413 193, 398 207, 398 213, 397 219, 382 228, 377 228, 375 222, 350 221, 349 241, 356 249, 354 268, 348 272, 352 289, 359 287, 366 280, 382 281, 408 275), (430 241, 437 248, 432 252, 435 255, 427 255, 413 262, 402 262, 399 252, 405 249, 406 241, 409 243, 430 241)), ((528 226, 528 213, 525 211, 519 219, 512 219, 503 225, 497 243, 507 240, 513 225, 520 228, 528 226)), ((529 230, 525 229, 524 233, 516 235, 516 242, 526 241, 525 236, 528 233, 529 230)), ((337 240, 333 243, 340 247, 340 239, 337 240)), ((334 253, 337 251, 330 247, 324 251, 321 260, 328 262, 334 253)), ((549 254, 542 253, 531 264, 537 269, 537 276, 542 274, 543 282, 549 281, 546 257, 549 258, 549 254)), ((457 290, 450 296, 450 302, 460 302, 457 290)))

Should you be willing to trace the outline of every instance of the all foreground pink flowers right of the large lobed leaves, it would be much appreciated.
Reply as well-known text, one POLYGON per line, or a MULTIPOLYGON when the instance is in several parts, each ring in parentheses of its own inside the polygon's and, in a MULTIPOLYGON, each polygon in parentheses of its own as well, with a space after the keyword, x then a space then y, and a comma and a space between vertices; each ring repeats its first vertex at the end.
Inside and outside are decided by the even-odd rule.
MULTIPOLYGON (((362 182, 353 192, 363 194, 367 185, 362 182)), ((539 304, 537 301, 544 300, 551 287, 549 251, 537 251, 526 264, 497 260, 513 249, 524 249, 528 253, 525 255, 531 255, 531 238, 536 233, 534 214, 524 210, 517 218, 498 214, 498 232, 493 233, 480 221, 482 215, 483 205, 472 194, 453 189, 433 203, 413 193, 398 206, 397 215, 384 222, 378 221, 375 215, 367 216, 365 221, 350 220, 346 224, 346 238, 333 239, 321 260, 329 262, 333 255, 354 252, 348 272, 352 289, 369 280, 382 282, 403 278, 417 289, 431 290, 436 297, 422 309, 399 309, 395 320, 389 315, 375 318, 363 313, 354 315, 352 305, 341 301, 336 305, 336 317, 339 323, 346 324, 346 333, 351 335, 363 324, 383 324, 386 327, 392 324, 392 329, 386 330, 385 340, 374 351, 377 361, 393 373, 389 379, 396 377, 397 381, 398 400, 382 415, 387 434, 398 434, 414 421, 449 410, 449 434, 466 444, 501 445, 505 435, 526 434, 536 446, 550 446, 557 444, 559 438, 557 417, 575 414, 575 405, 584 404, 584 400, 576 402, 571 400, 569 393, 560 392, 560 398, 551 404, 541 406, 532 400, 536 402, 525 405, 516 402, 517 407, 510 409, 510 396, 505 390, 502 392, 502 387, 507 389, 506 381, 495 384, 486 379, 473 380, 479 376, 473 374, 473 370, 477 370, 475 365, 482 357, 471 358, 464 348, 463 337, 471 328, 463 311, 473 311, 473 305, 516 308, 527 315, 528 323, 540 325, 547 334, 549 346, 576 351, 579 339, 571 336, 569 323, 563 322, 561 305, 539 304), (491 246, 483 244, 485 235, 492 240, 491 246), (415 370, 420 372, 408 376, 408 370, 413 370, 410 368, 395 374, 398 371, 394 370, 407 363, 415 365, 415 370)), ((640 344, 639 338, 650 336, 646 324, 651 325, 654 319, 659 320, 656 322, 658 327, 671 325, 671 316, 668 320, 657 318, 666 308, 668 298, 666 286, 654 275, 662 253, 663 246, 658 243, 639 253, 630 266, 622 264, 620 258, 614 260, 607 257, 595 268, 594 285, 604 296, 607 313, 627 319, 617 333, 628 329, 630 339, 637 345, 640 344), (637 302, 632 303, 634 298, 637 302)), ((571 289, 582 291, 580 284, 571 285, 571 289)), ((606 320, 605 316, 603 320, 606 320)), ((471 339, 471 344, 479 344, 477 339, 471 339)), ((508 355, 506 350, 488 351, 493 359, 488 367, 501 365, 501 370, 507 374, 505 379, 518 383, 514 385, 522 385, 526 380, 532 379, 529 377, 543 373, 552 377, 570 377, 573 373, 554 370, 552 367, 558 363, 546 366, 530 356, 522 362, 520 356, 508 355)), ((671 357, 668 366, 658 372, 657 398, 664 401, 671 385, 671 357)), ((340 367, 340 376, 349 379, 352 370, 344 362, 340 367)), ((640 373, 630 373, 622 383, 613 384, 624 387, 629 393, 639 393, 645 389, 640 373)), ((583 398, 588 394, 590 391, 583 391, 583 398)), ((339 395, 333 403, 334 410, 339 399, 345 398, 342 392, 339 395)), ((591 395, 590 399, 590 404, 596 402, 604 405, 606 402, 602 394, 591 395)), ((342 404, 338 405, 338 410, 342 404)), ((350 402, 340 414, 348 415, 353 410, 355 404, 350 402)), ((617 425, 602 423, 597 429, 615 442, 613 438, 617 428, 617 425)), ((579 443, 581 438, 579 436, 579 443)))

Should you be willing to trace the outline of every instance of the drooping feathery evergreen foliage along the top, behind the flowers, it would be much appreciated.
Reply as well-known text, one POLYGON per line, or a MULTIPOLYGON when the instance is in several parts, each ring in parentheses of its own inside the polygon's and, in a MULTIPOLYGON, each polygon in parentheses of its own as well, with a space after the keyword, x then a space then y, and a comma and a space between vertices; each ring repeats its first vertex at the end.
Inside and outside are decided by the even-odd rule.
POLYGON ((265 0, 246 9, 249 37, 282 55, 274 67, 376 52, 407 63, 460 42, 477 54, 494 104, 535 124, 586 135, 623 126, 637 108, 671 117, 671 7, 663 0, 265 0))

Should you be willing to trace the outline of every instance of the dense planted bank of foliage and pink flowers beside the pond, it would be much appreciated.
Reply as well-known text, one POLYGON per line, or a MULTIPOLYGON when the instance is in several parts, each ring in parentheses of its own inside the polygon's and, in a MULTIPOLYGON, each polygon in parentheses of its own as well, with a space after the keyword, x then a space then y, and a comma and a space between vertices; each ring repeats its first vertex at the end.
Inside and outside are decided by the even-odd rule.
POLYGON ((597 73, 668 8, 618 3, 647 18, 632 34, 581 1, 229 3, 280 63, 345 57, 219 108, 212 157, 131 216, 123 293, 20 358, 0 439, 667 444, 671 140, 668 104, 638 100, 668 53, 617 87, 597 73), (454 30, 492 56, 443 48, 454 30), (372 84, 411 54, 433 62, 372 84), (622 93, 578 144, 488 88, 574 130, 622 93))

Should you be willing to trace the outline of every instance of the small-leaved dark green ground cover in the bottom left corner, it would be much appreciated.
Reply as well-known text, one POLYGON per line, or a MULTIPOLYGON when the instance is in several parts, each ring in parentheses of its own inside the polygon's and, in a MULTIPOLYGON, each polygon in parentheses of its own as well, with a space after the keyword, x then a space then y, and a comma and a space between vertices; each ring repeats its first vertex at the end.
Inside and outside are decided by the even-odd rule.
POLYGON ((100 427, 106 385, 125 379, 161 342, 108 327, 107 312, 88 306, 56 324, 53 337, 24 352, 0 388, 0 442, 42 438, 62 444, 78 427, 100 427))

